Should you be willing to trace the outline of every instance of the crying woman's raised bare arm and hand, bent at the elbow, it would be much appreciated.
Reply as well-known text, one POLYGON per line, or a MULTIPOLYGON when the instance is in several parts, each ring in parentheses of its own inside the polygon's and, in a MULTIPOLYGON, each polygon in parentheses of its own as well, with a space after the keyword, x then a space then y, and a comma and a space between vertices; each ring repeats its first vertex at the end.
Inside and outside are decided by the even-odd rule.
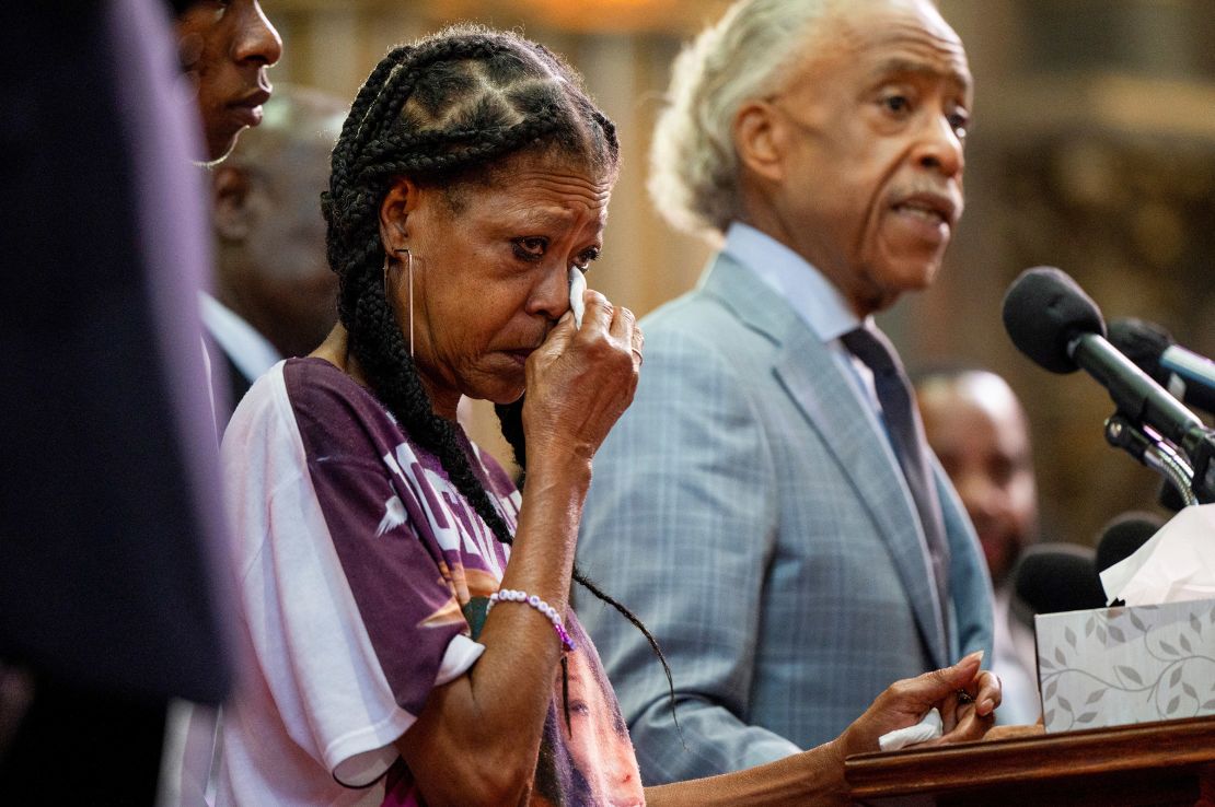
MULTIPOLYGON (((527 484, 502 578, 502 589, 535 595, 560 614, 590 458, 633 400, 640 365, 632 312, 595 291, 584 300, 582 328, 566 313, 527 358, 527 484)), ((561 644, 526 606, 495 608, 479 641, 486 649, 474 670, 435 687, 396 743, 430 803, 518 803, 535 775, 561 644)))

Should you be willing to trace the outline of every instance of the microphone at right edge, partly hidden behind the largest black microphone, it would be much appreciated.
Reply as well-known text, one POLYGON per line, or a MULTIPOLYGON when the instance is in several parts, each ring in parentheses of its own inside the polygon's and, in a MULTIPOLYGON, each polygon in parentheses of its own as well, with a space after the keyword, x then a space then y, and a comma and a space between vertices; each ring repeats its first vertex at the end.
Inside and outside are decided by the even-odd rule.
POLYGON ((1111 320, 1109 341, 1179 400, 1215 413, 1215 362, 1181 347, 1160 325, 1134 317, 1111 320))

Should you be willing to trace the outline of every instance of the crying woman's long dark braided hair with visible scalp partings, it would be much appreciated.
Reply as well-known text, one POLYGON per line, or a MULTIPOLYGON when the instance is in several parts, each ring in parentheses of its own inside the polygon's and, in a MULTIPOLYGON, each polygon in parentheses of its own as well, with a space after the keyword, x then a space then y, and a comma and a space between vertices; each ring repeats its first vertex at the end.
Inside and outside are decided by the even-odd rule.
MULTIPOLYGON (((525 153, 555 153, 614 175, 620 143, 615 125, 560 57, 510 33, 456 25, 392 49, 372 70, 343 125, 329 189, 321 194, 338 316, 351 353, 380 402, 439 458, 503 544, 513 541, 510 529, 474 473, 456 426, 434 413, 385 297, 379 205, 392 181, 408 176, 447 191, 454 208, 462 187, 492 178, 496 163, 525 153)), ((520 408, 498 407, 498 415, 525 465, 520 408)), ((662 663, 673 710, 671 669, 649 630, 577 567, 573 579, 645 635, 662 663)))

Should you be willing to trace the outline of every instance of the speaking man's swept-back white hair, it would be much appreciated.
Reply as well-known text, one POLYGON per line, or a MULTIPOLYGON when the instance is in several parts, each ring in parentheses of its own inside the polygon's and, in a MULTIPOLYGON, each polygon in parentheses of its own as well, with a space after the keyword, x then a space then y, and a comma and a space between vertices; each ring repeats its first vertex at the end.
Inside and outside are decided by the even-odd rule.
POLYGON ((650 149, 650 195, 693 233, 724 233, 740 214, 734 116, 780 89, 815 23, 838 0, 740 0, 676 59, 650 149))

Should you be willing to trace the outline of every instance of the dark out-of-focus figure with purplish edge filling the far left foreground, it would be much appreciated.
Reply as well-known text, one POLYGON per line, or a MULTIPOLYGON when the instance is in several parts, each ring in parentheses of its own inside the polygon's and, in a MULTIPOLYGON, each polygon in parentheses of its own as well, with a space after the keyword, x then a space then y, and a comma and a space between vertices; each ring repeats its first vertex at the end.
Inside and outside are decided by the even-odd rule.
MULTIPOLYGON (((217 24, 230 4, 205 5, 217 24)), ((0 6, 19 110, 0 126, 4 187, 21 200, 2 228, 19 271, 0 316, 0 665, 27 681, 16 716, 12 676, 0 684, 5 803, 152 803, 168 701, 228 688, 197 314, 210 254, 190 165, 221 153, 180 103, 165 12, 0 6)))

